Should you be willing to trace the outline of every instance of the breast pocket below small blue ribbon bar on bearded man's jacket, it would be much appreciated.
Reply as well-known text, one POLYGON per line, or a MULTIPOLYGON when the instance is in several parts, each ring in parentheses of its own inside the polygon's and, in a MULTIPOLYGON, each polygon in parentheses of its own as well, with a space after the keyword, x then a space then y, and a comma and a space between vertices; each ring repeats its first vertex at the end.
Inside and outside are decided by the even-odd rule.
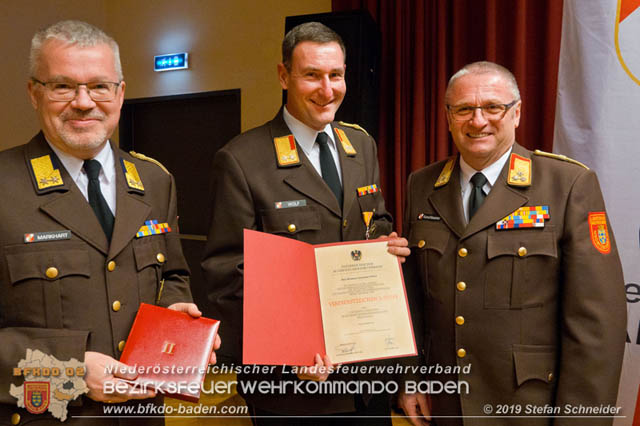
POLYGON ((138 272, 140 302, 157 303, 162 295, 162 274, 167 262, 164 234, 134 240, 133 255, 138 272))

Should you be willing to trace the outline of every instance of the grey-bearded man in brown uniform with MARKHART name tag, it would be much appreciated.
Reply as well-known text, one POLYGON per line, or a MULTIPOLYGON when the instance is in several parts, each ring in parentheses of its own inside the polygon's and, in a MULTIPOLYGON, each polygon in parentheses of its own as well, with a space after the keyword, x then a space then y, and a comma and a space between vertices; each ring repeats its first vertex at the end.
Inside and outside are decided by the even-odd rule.
POLYGON ((154 396, 103 387, 136 376, 105 369, 122 365, 117 359, 139 304, 200 315, 177 236, 175 183, 159 165, 108 140, 125 89, 113 39, 84 22, 59 22, 34 36, 30 71, 42 131, 0 154, 0 423, 59 424, 50 413, 32 414, 47 395, 25 401, 28 412, 9 393, 10 384, 23 384, 13 368, 39 350, 85 363, 89 391, 70 402, 66 424, 121 424, 127 420, 104 418, 103 403, 154 396), (168 228, 137 236, 151 221, 168 228))

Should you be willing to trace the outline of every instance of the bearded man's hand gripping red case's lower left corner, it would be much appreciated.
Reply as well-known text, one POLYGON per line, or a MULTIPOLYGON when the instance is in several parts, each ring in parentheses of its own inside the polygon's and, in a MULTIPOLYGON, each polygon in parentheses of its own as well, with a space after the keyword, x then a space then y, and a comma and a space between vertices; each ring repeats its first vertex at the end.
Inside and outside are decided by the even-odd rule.
POLYGON ((89 388, 87 396, 94 401, 116 403, 156 396, 155 391, 151 389, 143 392, 142 388, 134 388, 125 382, 124 380, 134 380, 138 374, 130 371, 130 367, 126 364, 108 355, 99 352, 85 352, 84 364, 87 369, 85 382, 89 388), (108 384, 106 388, 105 383, 108 384), (105 390, 109 391, 110 389, 114 389, 114 392, 104 393, 105 390))

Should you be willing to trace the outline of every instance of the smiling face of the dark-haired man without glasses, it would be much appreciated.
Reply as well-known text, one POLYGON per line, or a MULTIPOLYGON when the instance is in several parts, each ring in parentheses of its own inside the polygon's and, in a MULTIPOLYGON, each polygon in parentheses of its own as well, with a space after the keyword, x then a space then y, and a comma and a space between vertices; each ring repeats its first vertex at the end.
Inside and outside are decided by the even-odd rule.
POLYGON ((291 70, 278 65, 289 113, 312 129, 322 130, 333 121, 344 99, 345 69, 338 43, 299 43, 293 49, 291 70))

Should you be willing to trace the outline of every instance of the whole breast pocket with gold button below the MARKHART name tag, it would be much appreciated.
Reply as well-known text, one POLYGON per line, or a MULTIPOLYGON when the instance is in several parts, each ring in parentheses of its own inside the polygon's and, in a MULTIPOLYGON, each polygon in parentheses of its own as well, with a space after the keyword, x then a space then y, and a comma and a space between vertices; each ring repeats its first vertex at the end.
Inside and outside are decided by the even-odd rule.
POLYGON ((10 284, 2 287, 3 313, 23 324, 63 328, 63 303, 73 304, 90 283, 86 247, 47 242, 7 246, 4 251, 10 284))

